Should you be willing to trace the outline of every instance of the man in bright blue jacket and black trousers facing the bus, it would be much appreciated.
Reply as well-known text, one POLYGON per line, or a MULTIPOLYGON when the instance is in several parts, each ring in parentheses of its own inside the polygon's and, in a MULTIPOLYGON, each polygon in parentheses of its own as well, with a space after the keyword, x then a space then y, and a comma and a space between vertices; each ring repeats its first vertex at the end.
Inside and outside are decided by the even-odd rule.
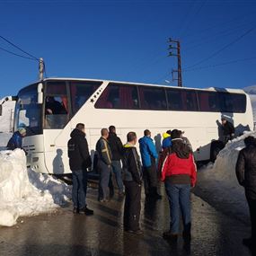
POLYGON ((146 197, 154 199, 162 199, 157 192, 157 172, 155 159, 158 154, 151 138, 150 130, 144 131, 144 137, 138 140, 141 160, 143 165, 143 177, 146 197))

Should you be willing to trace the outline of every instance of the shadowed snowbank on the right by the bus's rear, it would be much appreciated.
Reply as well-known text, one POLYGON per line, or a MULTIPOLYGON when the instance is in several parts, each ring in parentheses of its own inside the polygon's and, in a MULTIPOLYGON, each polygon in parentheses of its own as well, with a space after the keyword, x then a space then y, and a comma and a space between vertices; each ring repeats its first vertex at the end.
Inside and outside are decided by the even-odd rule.
POLYGON ((235 164, 244 147, 243 140, 248 136, 256 137, 256 132, 244 132, 243 136, 228 142, 217 155, 216 162, 200 170, 198 184, 203 196, 216 207, 243 221, 249 219, 249 212, 244 189, 236 179, 235 164))

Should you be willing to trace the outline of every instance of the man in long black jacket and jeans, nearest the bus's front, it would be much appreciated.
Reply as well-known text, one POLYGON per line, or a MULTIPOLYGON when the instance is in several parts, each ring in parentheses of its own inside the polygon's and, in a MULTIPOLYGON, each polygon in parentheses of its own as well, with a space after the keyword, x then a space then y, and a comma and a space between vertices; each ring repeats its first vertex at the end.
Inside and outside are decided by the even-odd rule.
POLYGON ((79 123, 70 134, 71 139, 67 143, 69 166, 72 171, 73 190, 72 200, 74 213, 93 215, 93 210, 86 205, 87 168, 91 167, 92 159, 89 154, 87 140, 85 138, 84 124, 79 123))

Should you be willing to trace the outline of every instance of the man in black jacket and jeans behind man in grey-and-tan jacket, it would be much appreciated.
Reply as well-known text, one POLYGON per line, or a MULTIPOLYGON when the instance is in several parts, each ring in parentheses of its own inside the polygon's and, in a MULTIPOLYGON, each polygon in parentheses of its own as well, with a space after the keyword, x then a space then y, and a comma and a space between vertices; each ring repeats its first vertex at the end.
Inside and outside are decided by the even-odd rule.
POLYGON ((114 126, 110 126, 109 128, 110 134, 108 137, 108 141, 110 143, 110 149, 112 153, 112 171, 115 175, 118 187, 119 187, 119 195, 123 196, 124 194, 124 185, 122 181, 122 168, 121 168, 121 157, 123 154, 123 145, 120 138, 116 134, 116 128, 114 126))

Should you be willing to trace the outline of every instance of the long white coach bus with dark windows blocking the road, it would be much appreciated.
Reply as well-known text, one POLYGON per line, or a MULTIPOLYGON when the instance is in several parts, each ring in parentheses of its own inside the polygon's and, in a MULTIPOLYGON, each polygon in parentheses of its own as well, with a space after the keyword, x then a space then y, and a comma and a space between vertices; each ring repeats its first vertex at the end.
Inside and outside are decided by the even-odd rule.
POLYGON ((14 130, 27 129, 23 147, 36 172, 70 172, 67 141, 80 122, 92 155, 101 129, 110 125, 123 143, 128 131, 143 137, 150 129, 157 150, 163 132, 178 128, 190 139, 197 161, 214 158, 223 146, 222 116, 234 123, 237 135, 253 129, 250 98, 243 90, 47 78, 24 87, 15 99, 14 130))

